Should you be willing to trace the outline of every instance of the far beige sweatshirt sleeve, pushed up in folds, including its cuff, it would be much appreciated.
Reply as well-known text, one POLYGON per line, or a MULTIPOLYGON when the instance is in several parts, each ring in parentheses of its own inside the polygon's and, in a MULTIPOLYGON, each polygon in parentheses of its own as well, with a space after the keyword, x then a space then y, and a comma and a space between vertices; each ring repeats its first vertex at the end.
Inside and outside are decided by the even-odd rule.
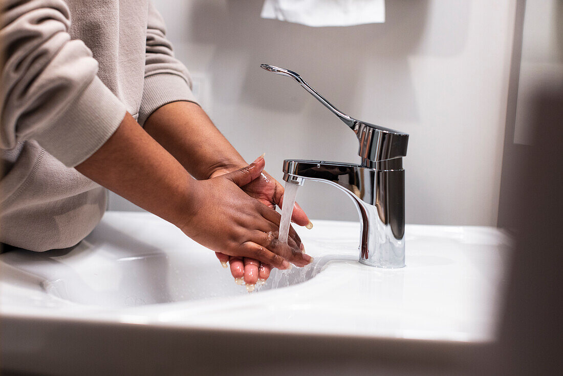
POLYGON ((137 121, 144 125, 150 114, 171 102, 185 100, 197 103, 190 89, 190 73, 174 57, 162 16, 149 2, 145 83, 137 121))

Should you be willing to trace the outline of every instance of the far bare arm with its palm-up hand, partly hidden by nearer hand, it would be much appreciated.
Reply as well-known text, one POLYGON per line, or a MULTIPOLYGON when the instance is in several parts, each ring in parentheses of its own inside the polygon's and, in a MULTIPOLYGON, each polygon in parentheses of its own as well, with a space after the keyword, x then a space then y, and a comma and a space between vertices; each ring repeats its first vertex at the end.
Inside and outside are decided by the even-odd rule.
MULTIPOLYGON (((158 108, 146 120, 145 130, 197 179, 213 178, 247 165, 204 110, 195 103, 176 101, 158 108)), ((265 171, 242 188, 249 196, 272 209, 275 205, 283 205, 282 185, 265 171)), ((275 215, 279 216, 277 213, 275 215)), ((292 220, 298 225, 310 225, 309 218, 297 204, 292 220)), ((293 228, 289 241, 300 244, 301 250, 304 249, 293 228)), ((244 278, 247 284, 256 284, 258 279, 266 280, 270 275, 270 266, 260 265, 252 259, 229 258, 220 253, 217 253, 217 258, 224 265, 228 260, 233 277, 244 278)))

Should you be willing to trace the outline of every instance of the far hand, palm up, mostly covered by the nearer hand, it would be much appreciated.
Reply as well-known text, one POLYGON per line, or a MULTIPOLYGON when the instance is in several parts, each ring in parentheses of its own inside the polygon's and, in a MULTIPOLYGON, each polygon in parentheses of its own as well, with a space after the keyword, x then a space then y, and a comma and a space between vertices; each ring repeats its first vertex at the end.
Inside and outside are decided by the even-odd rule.
MULTIPOLYGON (((211 174, 211 177, 221 176, 228 172, 229 169, 216 170, 211 174)), ((271 207, 271 209, 275 210, 276 205, 280 207, 283 205, 284 188, 282 184, 272 178, 266 171, 262 171, 258 178, 252 180, 251 183, 244 185, 242 189, 249 196, 256 198, 258 201, 262 202, 262 204, 271 207)), ((307 218, 307 215, 297 203, 293 208, 292 222, 298 225, 307 226, 307 228, 312 227, 312 223, 309 218, 307 218)), ((305 249, 301 243, 301 239, 293 228, 290 228, 288 242, 290 244, 299 243, 301 251, 305 249)), ((270 276, 270 265, 259 263, 250 258, 242 259, 230 257, 219 252, 217 252, 216 255, 223 267, 227 268, 227 262, 229 262, 231 274, 238 284, 242 284, 243 282, 247 285, 254 285, 256 282, 264 284, 270 276)))

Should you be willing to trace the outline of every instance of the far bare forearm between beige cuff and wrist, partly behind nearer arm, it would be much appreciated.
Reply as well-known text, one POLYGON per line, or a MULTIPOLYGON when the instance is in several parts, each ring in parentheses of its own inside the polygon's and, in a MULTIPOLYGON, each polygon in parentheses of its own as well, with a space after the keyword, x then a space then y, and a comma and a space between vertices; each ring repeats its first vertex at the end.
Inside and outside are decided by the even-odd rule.
POLYGON ((160 107, 146 120, 145 131, 196 179, 247 165, 195 103, 177 101, 160 107))

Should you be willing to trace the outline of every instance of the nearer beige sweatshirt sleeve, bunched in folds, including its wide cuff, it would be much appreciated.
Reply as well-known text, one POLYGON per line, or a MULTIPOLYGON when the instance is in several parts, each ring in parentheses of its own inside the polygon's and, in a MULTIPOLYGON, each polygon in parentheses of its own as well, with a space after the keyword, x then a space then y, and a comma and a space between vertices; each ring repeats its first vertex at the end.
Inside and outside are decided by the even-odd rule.
POLYGON ((0 1, 0 147, 36 140, 66 166, 91 156, 126 113, 97 61, 71 40, 64 0, 0 1))

